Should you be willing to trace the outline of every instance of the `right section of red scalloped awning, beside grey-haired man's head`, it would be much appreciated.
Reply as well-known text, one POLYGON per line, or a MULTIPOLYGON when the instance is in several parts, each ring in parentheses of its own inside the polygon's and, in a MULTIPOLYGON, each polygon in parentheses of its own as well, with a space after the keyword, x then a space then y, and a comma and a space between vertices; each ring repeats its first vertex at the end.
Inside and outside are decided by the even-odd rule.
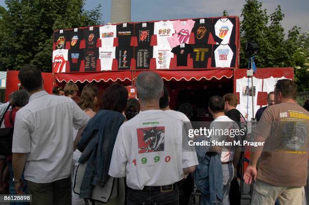
MULTIPOLYGON (((232 78, 233 70, 222 69, 222 70, 191 70, 191 71, 151 71, 159 74, 164 80, 171 81, 200 81, 202 79, 211 80, 213 78, 220 80, 222 78, 232 78)), ((136 72, 136 77, 141 71, 136 72)))

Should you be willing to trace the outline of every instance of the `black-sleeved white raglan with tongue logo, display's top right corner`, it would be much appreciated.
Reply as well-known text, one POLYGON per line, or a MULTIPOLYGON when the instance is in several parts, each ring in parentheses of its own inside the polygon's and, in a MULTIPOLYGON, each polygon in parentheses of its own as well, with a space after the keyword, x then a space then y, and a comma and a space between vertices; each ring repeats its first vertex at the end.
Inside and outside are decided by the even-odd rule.
POLYGON ((235 18, 214 19, 213 37, 217 43, 235 45, 235 18))

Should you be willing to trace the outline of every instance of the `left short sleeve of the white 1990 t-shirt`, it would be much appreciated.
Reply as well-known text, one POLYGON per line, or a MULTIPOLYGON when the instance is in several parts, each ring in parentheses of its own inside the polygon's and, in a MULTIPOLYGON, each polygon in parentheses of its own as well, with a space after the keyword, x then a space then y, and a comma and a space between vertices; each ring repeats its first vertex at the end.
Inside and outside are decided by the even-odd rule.
POLYGON ((109 170, 109 175, 116 178, 126 176, 126 165, 128 159, 124 149, 124 142, 123 142, 124 137, 125 137, 124 128, 122 125, 117 134, 109 170))

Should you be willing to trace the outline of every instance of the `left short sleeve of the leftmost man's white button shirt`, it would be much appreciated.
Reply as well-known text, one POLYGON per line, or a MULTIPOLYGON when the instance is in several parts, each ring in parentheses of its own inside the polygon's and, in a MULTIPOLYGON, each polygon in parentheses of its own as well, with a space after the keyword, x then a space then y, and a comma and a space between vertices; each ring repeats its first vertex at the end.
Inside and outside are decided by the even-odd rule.
POLYGON ((30 116, 23 117, 20 112, 16 113, 14 133, 13 133, 13 153, 29 153, 31 138, 30 138, 30 124, 32 120, 29 119, 30 116))

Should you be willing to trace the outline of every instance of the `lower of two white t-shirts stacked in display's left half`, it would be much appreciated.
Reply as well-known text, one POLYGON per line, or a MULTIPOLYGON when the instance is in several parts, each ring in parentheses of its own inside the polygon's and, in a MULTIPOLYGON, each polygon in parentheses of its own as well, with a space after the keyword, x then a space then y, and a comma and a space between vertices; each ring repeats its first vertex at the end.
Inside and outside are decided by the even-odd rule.
POLYGON ((115 58, 116 47, 104 46, 99 48, 101 71, 112 71, 113 59, 115 58))

